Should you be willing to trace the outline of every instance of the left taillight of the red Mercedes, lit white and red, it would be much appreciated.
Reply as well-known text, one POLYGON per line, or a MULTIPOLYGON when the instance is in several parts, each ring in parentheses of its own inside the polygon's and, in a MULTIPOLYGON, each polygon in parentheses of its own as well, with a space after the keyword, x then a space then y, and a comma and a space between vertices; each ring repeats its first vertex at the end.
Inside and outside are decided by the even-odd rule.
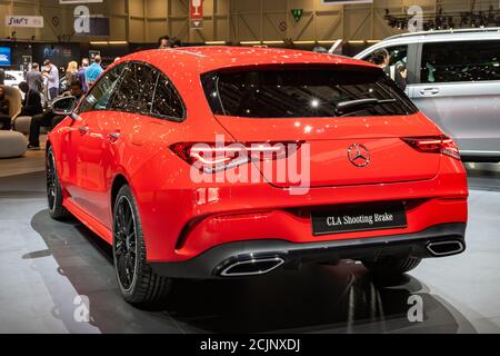
POLYGON ((180 142, 170 146, 177 156, 204 172, 216 172, 248 164, 252 160, 286 158, 299 148, 301 141, 288 142, 233 142, 216 144, 180 142))

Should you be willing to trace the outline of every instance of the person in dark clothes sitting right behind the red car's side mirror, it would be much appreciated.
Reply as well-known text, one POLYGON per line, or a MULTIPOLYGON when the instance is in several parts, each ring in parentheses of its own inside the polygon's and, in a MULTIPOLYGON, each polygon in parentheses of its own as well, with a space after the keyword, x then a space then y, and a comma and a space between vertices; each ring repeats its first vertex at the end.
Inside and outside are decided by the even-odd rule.
MULTIPOLYGON (((69 91, 63 92, 60 97, 73 96, 78 101, 83 98, 83 90, 80 81, 74 80, 71 82, 69 91)), ((47 110, 43 113, 37 115, 31 119, 29 145, 28 149, 39 150, 40 149, 40 128, 48 127, 54 128, 59 122, 64 119, 63 116, 57 116, 52 110, 47 110)))

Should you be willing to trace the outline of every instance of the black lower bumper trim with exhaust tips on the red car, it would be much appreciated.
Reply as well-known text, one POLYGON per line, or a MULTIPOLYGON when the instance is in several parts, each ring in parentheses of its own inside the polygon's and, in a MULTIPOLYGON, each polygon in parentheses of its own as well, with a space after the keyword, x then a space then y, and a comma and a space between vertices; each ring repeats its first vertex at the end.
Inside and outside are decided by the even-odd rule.
POLYGON ((276 260, 278 268, 298 268, 307 263, 334 264, 340 259, 376 260, 379 257, 439 257, 429 244, 458 241, 466 247, 466 224, 441 224, 419 233, 322 243, 297 244, 279 239, 227 243, 177 263, 151 263, 153 270, 172 278, 221 278, 229 266, 251 260, 276 260), (279 263, 278 263, 279 261, 279 263))

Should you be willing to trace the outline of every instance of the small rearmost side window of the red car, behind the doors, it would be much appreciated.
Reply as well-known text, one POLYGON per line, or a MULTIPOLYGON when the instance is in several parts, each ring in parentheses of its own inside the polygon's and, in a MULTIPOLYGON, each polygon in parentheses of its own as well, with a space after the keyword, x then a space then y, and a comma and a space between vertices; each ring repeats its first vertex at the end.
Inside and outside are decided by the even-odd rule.
POLYGON ((151 113, 174 121, 184 119, 184 106, 172 82, 164 75, 160 75, 154 90, 151 113))

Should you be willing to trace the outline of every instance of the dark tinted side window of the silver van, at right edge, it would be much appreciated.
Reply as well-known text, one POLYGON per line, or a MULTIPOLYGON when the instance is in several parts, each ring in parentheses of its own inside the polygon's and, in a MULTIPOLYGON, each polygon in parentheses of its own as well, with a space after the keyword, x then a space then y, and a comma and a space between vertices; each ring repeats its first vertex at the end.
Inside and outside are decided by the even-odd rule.
POLYGON ((500 80, 500 41, 424 43, 421 82, 500 80))

